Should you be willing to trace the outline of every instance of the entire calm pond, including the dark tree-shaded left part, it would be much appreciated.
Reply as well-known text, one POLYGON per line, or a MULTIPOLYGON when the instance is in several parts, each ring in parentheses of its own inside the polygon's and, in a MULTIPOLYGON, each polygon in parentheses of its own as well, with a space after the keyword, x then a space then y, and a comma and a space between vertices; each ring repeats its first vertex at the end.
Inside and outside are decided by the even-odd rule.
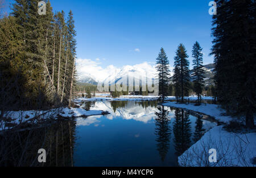
POLYGON ((109 115, 49 119, 0 134, 0 166, 177 166, 215 122, 158 101, 93 101, 109 115), (46 150, 46 163, 38 150, 46 150))

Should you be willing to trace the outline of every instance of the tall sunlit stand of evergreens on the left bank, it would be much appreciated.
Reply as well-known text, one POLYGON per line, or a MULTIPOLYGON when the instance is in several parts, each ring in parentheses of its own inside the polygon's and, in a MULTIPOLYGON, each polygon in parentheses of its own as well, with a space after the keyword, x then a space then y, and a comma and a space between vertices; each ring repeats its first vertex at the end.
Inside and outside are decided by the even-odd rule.
POLYGON ((39 15, 38 0, 15 0, 0 20, 0 103, 6 109, 71 104, 76 31, 72 11, 39 15))

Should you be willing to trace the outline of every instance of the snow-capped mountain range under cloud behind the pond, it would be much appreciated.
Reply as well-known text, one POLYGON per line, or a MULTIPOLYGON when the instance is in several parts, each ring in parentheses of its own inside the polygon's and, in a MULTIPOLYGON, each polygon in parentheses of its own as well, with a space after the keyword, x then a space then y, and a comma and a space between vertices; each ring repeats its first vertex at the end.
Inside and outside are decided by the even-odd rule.
MULTIPOLYGON (((87 64, 88 66, 88 64, 87 64)), ((213 77, 214 77, 214 64, 210 63, 203 67, 205 71, 205 85, 213 84, 213 77)), ((174 74, 173 68, 170 68, 171 76, 174 74)), ((192 74, 193 70, 191 70, 192 74)), ((133 78, 134 82, 141 83, 142 78, 147 78, 148 81, 152 81, 157 76, 157 72, 155 66, 150 65, 147 62, 138 64, 138 65, 126 65, 123 67, 115 67, 110 65, 105 69, 101 67, 88 66, 88 67, 79 67, 78 69, 79 74, 79 82, 81 83, 90 83, 97 85, 98 82, 101 83, 108 83, 110 84, 121 82, 123 78, 133 78), (86 72, 85 72, 86 71, 86 72)))

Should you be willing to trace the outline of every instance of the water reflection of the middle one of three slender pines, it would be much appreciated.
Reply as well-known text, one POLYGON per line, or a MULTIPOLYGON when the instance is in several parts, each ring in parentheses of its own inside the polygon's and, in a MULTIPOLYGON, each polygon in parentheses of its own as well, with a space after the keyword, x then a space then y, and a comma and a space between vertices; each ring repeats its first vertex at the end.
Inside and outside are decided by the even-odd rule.
POLYGON ((191 122, 188 112, 176 109, 173 130, 176 154, 180 156, 191 146, 191 122))

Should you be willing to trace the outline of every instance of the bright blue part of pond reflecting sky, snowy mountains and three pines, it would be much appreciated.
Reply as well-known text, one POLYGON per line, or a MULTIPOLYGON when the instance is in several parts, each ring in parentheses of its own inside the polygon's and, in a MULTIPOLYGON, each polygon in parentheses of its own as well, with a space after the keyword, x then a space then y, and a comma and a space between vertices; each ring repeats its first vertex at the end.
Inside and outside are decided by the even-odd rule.
POLYGON ((177 166, 177 156, 216 125, 157 101, 85 102, 110 115, 77 118, 74 166, 177 166))

